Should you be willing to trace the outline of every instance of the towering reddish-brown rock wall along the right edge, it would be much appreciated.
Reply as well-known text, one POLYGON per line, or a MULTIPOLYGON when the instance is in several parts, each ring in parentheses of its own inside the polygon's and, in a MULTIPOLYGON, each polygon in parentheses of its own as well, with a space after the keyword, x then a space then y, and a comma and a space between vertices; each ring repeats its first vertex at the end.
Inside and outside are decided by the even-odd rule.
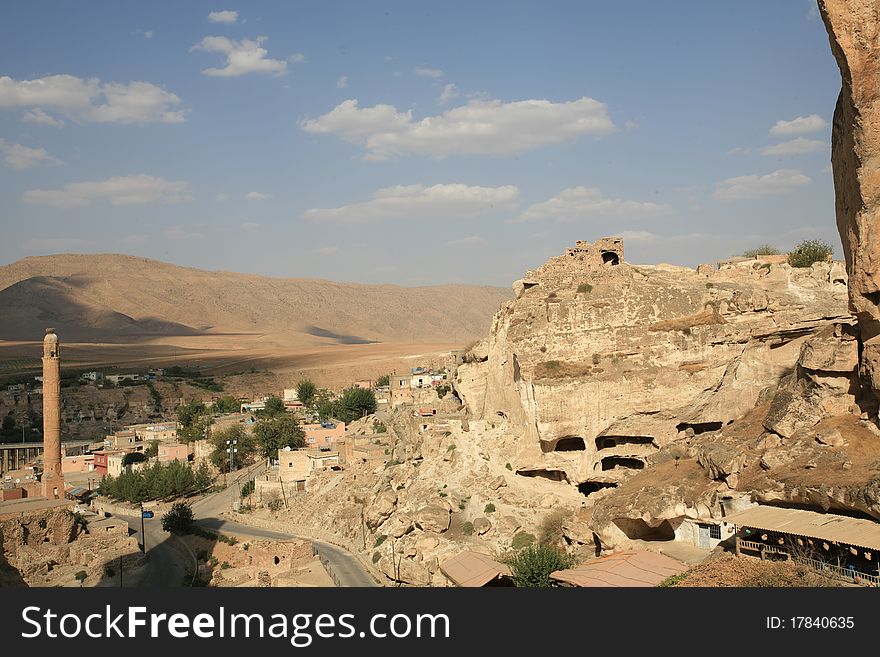
POLYGON ((862 374, 880 397, 880 4, 819 0, 842 86, 831 162, 862 374))

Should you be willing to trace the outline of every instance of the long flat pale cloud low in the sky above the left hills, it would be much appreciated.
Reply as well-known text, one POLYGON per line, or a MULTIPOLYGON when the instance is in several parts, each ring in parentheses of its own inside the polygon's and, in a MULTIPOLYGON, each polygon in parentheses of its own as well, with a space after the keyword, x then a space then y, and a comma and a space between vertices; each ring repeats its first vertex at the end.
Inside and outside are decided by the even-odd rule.
POLYGON ((106 201, 112 205, 180 203, 191 200, 189 183, 153 176, 121 176, 94 182, 69 183, 61 189, 29 189, 22 200, 56 208, 80 208, 106 201))

